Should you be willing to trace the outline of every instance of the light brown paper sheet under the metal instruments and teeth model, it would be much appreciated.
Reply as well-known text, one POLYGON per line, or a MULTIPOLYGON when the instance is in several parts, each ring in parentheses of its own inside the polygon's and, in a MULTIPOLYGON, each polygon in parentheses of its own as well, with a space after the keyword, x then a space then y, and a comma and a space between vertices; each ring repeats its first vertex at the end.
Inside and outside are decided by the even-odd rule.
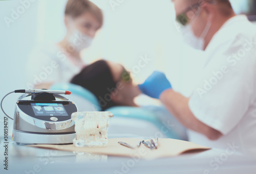
MULTIPOLYGON (((155 139, 154 139, 155 140, 155 139)), ((54 145, 54 144, 37 144, 28 145, 39 148, 49 148, 65 151, 80 151, 92 154, 102 154, 109 156, 121 156, 121 157, 135 157, 140 159, 157 159, 165 157, 174 157, 188 151, 201 151, 208 150, 210 148, 201 146, 192 142, 176 140, 176 139, 159 139, 159 145, 157 149, 150 149, 144 144, 135 149, 122 146, 118 141, 125 142, 127 144, 136 146, 142 139, 136 138, 113 138, 109 139, 108 147, 76 147, 74 144, 69 145, 54 145)), ((148 140, 145 140, 148 141, 148 140)))

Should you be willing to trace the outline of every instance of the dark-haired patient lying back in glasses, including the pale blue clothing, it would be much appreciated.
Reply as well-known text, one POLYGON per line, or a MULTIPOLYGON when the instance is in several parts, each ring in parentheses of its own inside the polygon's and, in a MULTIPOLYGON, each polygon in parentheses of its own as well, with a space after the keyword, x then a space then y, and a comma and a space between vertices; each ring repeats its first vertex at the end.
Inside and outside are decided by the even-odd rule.
MULTIPOLYGON (((102 111, 112 106, 135 106, 134 99, 141 94, 138 85, 133 83, 130 73, 123 66, 110 61, 99 60, 84 68, 71 81, 91 91, 98 99, 102 111)), ((158 119, 171 124, 173 137, 186 140, 186 129, 169 112, 160 106, 140 106, 155 113, 158 119), (176 135, 176 136, 174 136, 176 135)))

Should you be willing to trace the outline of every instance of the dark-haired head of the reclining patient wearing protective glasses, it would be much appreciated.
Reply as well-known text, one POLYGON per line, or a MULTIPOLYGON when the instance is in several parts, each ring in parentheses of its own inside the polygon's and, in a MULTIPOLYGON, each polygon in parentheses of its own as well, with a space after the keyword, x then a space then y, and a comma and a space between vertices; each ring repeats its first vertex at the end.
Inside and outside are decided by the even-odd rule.
POLYGON ((130 73, 121 64, 106 60, 90 64, 71 82, 91 91, 103 111, 112 106, 137 106, 134 98, 141 94, 130 73))

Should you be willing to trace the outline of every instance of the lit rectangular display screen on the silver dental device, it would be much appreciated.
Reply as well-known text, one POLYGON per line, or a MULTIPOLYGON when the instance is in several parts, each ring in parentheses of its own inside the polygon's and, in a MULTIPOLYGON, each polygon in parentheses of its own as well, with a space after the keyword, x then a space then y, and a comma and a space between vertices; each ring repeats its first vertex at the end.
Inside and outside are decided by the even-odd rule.
POLYGON ((35 116, 68 116, 61 103, 31 103, 35 116))

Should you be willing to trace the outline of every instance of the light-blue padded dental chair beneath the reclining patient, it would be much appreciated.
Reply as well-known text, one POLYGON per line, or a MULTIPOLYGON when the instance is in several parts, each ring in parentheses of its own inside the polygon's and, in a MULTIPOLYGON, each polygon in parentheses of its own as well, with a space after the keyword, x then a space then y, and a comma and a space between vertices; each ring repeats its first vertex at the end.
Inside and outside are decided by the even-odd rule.
MULTIPOLYGON (((51 86, 51 90, 71 91, 69 99, 76 103, 79 112, 101 111, 99 102, 94 94, 79 85, 72 83, 56 83, 51 86)), ((166 124, 164 124, 156 114, 145 108, 114 106, 108 108, 106 111, 110 111, 114 114, 114 117, 111 118, 110 121, 109 134, 184 139, 179 133, 175 132, 175 130, 168 130, 166 124)))

